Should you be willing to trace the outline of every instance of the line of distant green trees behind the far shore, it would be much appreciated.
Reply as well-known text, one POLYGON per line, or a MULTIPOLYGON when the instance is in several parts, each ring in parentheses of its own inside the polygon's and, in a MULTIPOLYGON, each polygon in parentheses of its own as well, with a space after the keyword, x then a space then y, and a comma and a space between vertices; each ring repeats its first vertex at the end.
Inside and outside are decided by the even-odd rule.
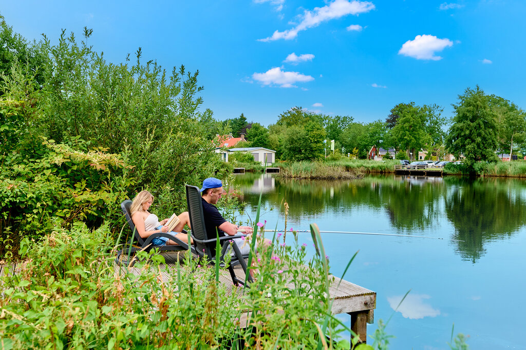
MULTIPOLYGON (((317 160, 335 140, 335 153, 366 158, 371 147, 395 149, 396 157, 427 158, 451 153, 466 164, 496 161, 497 154, 526 154, 526 113, 513 102, 485 94, 480 87, 467 88, 453 104, 453 116, 443 115, 437 104, 399 103, 386 120, 357 122, 352 116, 314 113, 301 107, 282 112, 275 124, 265 128, 239 118, 216 122, 234 136, 245 133, 247 145, 268 147, 281 160, 317 160)), ((332 153, 332 152, 331 152, 332 153)))

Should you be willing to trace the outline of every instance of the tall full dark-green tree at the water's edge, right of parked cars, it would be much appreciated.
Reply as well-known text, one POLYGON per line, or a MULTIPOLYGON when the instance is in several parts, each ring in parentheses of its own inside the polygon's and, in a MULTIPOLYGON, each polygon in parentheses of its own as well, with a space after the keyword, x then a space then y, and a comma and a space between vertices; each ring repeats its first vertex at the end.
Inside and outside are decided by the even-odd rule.
POLYGON ((464 155, 464 164, 473 171, 478 161, 497 160, 497 122, 484 91, 467 88, 453 104, 453 125, 446 136, 446 146, 456 157, 464 155))

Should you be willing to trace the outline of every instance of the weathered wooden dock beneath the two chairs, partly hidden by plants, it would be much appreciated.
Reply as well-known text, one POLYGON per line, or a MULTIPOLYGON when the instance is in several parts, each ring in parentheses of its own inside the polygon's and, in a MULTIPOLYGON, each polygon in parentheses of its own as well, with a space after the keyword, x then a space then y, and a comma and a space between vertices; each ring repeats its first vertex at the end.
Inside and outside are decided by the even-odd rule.
MULTIPOLYGON (((173 279, 170 269, 176 268, 179 265, 179 254, 184 254, 183 251, 164 251, 161 254, 165 257, 166 264, 161 266, 161 276, 164 282, 173 279)), ((12 264, 8 266, 0 265, 0 277, 9 271, 9 273, 17 273, 23 266, 12 264), (8 268, 8 269, 6 269, 8 268)), ((306 267, 307 268, 307 267, 306 267)), ((140 274, 140 269, 131 267, 119 267, 115 265, 115 269, 122 271, 128 270, 133 274, 140 274)), ((244 271, 237 265, 234 267, 237 277, 245 279, 244 271)), ((156 270, 157 272, 157 270, 156 270)), ((289 275, 290 276, 290 275, 289 275)), ((329 287, 329 294, 332 299, 332 314, 347 313, 351 316, 351 330, 360 335, 360 340, 365 343, 367 341, 367 324, 374 322, 374 309, 376 308, 376 292, 370 291, 359 285, 353 284, 346 280, 341 280, 333 277, 334 281, 329 287)), ((242 296, 242 288, 232 285, 232 279, 227 270, 220 270, 219 281, 224 285, 229 293, 236 293, 242 296)), ((291 277, 287 280, 287 287, 294 288, 294 283, 291 277)), ((240 326, 246 327, 249 316, 249 310, 243 310, 240 317, 240 326)))

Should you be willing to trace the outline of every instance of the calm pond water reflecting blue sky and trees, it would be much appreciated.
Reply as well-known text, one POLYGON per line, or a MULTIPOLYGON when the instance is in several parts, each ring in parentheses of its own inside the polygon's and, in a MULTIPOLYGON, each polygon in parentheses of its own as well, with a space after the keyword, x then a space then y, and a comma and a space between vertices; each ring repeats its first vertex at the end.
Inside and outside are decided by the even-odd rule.
MULTIPOLYGON (((391 349, 449 349, 451 327, 471 349, 526 349, 526 182, 519 179, 369 176, 356 181, 291 181, 240 175, 246 212, 260 189, 267 228, 398 233, 450 240, 322 234, 331 272, 360 250, 345 279, 377 292, 375 321, 395 335, 391 349)), ((310 234, 300 234, 313 253, 310 234)), ((350 325, 347 315, 341 316, 350 325)), ((368 325, 372 334, 375 325, 368 325)), ((371 338, 368 342, 372 343, 371 338)))

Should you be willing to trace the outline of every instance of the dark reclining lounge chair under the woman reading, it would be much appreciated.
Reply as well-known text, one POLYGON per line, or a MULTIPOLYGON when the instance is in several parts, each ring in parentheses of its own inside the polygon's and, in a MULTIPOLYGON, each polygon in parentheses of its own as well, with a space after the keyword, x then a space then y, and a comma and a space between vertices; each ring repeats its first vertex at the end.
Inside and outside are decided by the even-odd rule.
MULTIPOLYGON (((126 243, 125 248, 121 249, 117 252, 117 258, 115 258, 115 262, 119 266, 128 266, 130 262, 133 261, 133 257, 135 256, 135 252, 139 250, 145 250, 149 251, 154 248, 158 248, 159 251, 177 251, 177 250, 188 250, 188 243, 181 241, 178 238, 175 238, 174 236, 168 235, 164 232, 159 232, 158 234, 153 234, 148 236, 146 239, 140 237, 139 232, 137 232, 137 229, 135 228, 135 225, 133 221, 131 220, 131 213, 130 213, 130 207, 131 207, 131 200, 127 199, 123 201, 123 203, 120 204, 120 208, 123 210, 123 214, 126 217, 126 221, 128 221, 128 225, 131 229, 131 232, 133 232, 133 236, 129 239, 129 241, 126 243), (166 237, 170 240, 175 241, 178 246, 154 246, 151 243, 151 240, 153 240, 156 237, 166 237), (134 241, 136 241, 136 244, 134 245, 134 241)), ((183 233, 187 233, 185 230, 183 230, 183 233)), ((190 247, 192 251, 194 249, 190 247)), ((136 259, 135 259, 136 260, 136 259)))

